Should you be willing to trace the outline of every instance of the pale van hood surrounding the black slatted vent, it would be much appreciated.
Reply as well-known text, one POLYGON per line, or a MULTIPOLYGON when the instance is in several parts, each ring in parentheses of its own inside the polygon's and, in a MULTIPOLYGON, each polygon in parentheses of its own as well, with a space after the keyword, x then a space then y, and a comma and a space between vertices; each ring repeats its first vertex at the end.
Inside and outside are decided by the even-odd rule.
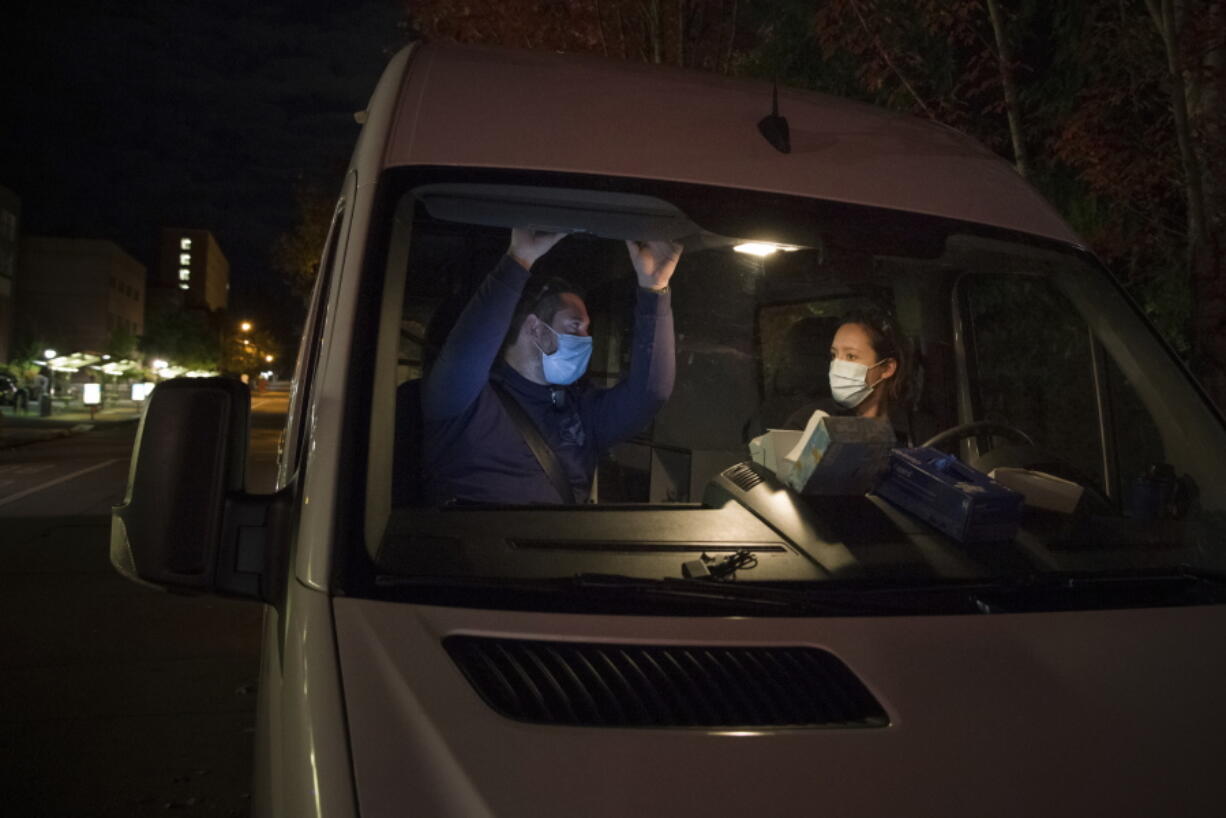
POLYGON ((606 617, 336 598, 364 818, 1219 816, 1226 606, 866 618, 606 617), (499 715, 450 635, 809 646, 879 728, 626 728, 499 715))

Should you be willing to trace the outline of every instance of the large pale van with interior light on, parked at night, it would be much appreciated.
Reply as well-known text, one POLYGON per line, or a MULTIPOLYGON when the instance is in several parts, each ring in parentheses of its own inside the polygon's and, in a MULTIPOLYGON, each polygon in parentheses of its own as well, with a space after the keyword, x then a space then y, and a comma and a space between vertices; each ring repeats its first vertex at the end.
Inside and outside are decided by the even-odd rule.
POLYGON ((411 47, 365 112, 293 383, 272 495, 243 488, 245 386, 159 385, 112 540, 134 579, 265 605, 257 816, 1226 809, 1226 427, 961 134, 411 47), (684 248, 671 397, 590 502, 427 504, 395 491, 432 480, 413 385, 522 226, 568 234, 533 273, 585 293, 576 389, 626 377, 625 240, 684 248), (828 405, 831 338, 867 312, 906 363, 900 446, 1075 503, 962 542, 753 461, 828 405))

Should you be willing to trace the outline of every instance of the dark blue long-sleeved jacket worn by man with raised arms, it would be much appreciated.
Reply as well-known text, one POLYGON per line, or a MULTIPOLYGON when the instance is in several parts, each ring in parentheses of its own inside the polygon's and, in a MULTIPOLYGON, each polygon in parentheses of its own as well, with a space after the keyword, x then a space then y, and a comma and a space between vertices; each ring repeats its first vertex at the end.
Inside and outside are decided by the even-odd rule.
POLYGON ((422 385, 424 493, 432 504, 560 502, 490 380, 500 381, 536 422, 580 503, 601 455, 641 432, 672 392, 671 297, 641 287, 630 372, 619 384, 547 386, 515 372, 499 353, 527 278, 519 262, 503 258, 465 307, 422 385))

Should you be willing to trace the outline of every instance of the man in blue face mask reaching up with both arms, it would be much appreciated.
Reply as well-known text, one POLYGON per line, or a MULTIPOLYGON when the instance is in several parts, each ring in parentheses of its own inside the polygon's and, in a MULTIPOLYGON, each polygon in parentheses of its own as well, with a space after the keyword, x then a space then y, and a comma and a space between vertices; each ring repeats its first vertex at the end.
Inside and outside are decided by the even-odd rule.
POLYGON ((680 247, 626 242, 639 285, 630 370, 612 389, 596 389, 581 381, 592 352, 582 297, 557 281, 524 294, 532 265, 560 238, 511 231, 506 255, 423 383, 423 488, 432 504, 584 503, 601 454, 642 430, 672 392, 668 282, 680 247), (533 453, 525 423, 552 462, 533 453))

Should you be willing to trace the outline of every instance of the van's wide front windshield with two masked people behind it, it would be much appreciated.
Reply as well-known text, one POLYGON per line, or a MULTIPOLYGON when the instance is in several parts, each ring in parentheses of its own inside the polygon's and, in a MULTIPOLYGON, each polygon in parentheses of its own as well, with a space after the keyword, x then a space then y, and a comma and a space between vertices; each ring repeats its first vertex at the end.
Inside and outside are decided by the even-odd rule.
POLYGON ((385 585, 1226 571, 1222 424, 1076 248, 644 180, 389 186, 365 521, 385 585), (653 292, 644 269, 672 262, 653 292))

